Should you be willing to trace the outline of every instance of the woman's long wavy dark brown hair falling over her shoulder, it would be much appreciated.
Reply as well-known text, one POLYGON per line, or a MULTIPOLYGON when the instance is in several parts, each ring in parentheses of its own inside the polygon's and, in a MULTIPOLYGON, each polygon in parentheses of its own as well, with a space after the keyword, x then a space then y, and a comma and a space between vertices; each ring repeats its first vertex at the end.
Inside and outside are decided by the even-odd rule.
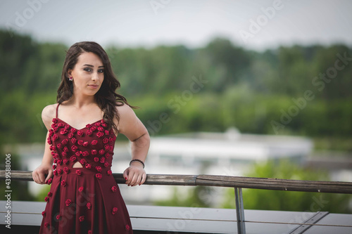
POLYGON ((73 44, 67 51, 65 62, 63 63, 63 72, 61 74, 61 84, 58 87, 58 96, 56 101, 63 103, 65 100, 69 100, 73 96, 73 82, 68 80, 68 70, 75 67, 78 56, 84 52, 95 53, 99 56, 104 66, 104 79, 103 84, 98 92, 94 95, 96 103, 99 108, 104 112, 103 119, 108 124, 108 128, 113 128, 115 132, 118 132, 118 126, 113 122, 114 117, 120 121, 120 115, 116 106, 129 105, 131 108, 135 108, 129 103, 124 96, 116 93, 116 89, 120 88, 120 82, 116 79, 111 67, 108 54, 104 49, 94 41, 81 41, 73 44))

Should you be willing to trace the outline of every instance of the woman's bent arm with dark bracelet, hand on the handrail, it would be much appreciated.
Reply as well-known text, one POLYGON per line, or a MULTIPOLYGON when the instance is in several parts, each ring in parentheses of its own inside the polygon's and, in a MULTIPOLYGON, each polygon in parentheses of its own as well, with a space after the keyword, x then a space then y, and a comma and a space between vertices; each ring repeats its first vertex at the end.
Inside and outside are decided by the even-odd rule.
POLYGON ((118 113, 120 115, 119 133, 130 140, 132 160, 135 160, 125 169, 123 176, 128 186, 140 186, 146 181, 146 171, 142 162, 145 162, 149 150, 149 133, 128 105, 118 107, 118 113))

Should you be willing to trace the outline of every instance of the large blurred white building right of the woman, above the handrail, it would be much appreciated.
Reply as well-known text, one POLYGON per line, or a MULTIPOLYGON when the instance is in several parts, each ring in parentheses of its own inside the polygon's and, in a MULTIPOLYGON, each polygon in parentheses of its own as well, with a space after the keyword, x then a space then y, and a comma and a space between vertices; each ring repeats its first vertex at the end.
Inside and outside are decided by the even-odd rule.
POLYGON ((148 164, 151 168, 166 167, 163 171, 180 167, 191 174, 242 176, 244 166, 253 162, 281 158, 303 162, 312 150, 313 142, 308 138, 240 134, 237 129, 229 129, 225 133, 197 132, 152 138, 148 164), (229 174, 230 167, 236 171, 229 174))

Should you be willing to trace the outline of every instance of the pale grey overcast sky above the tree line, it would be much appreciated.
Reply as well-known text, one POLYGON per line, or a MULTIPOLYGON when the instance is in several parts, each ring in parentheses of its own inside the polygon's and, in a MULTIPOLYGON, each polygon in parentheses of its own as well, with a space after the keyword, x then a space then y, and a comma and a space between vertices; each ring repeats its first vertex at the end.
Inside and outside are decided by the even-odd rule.
POLYGON ((89 40, 103 46, 194 48, 214 37, 256 50, 352 46, 352 1, 1 0, 0 27, 68 46, 89 40))

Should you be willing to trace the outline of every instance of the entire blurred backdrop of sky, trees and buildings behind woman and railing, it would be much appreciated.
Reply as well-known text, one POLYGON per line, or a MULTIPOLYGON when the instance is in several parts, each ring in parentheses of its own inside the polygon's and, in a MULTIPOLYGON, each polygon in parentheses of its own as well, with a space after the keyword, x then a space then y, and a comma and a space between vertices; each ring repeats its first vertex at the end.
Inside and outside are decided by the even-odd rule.
MULTIPOLYGON (((352 181, 351 10, 351 1, 1 1, 0 168, 8 153, 12 170, 40 164, 41 113, 56 103, 65 51, 96 41, 151 135, 147 173, 352 181)), ((118 136, 114 173, 129 146, 118 136)), ((12 200, 49 191, 12 188, 12 200)), ((127 204, 234 207, 233 189, 120 189, 127 204)), ((351 213, 352 197, 245 189, 244 208, 351 213)))

